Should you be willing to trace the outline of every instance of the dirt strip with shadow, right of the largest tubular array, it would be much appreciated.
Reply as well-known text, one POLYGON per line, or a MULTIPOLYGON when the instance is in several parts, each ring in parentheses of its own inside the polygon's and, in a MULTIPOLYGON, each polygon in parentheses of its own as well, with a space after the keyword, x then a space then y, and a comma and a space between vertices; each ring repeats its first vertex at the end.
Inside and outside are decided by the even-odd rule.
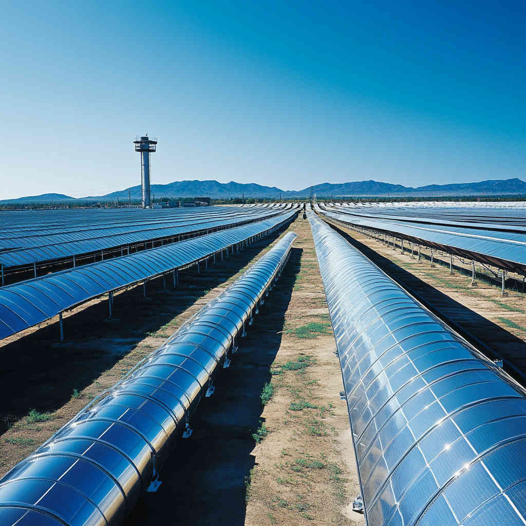
MULTIPOLYGON (((455 330, 490 358, 504 358, 504 369, 526 385, 526 294, 508 290, 501 297, 498 285, 477 278, 453 266, 449 257, 438 256, 434 266, 429 259, 418 261, 400 247, 392 249, 381 241, 341 228, 353 244, 393 279, 407 288, 426 306, 450 323, 455 330)), ((407 247, 406 247, 407 248, 407 247)), ((429 250, 422 254, 429 257, 429 250)))

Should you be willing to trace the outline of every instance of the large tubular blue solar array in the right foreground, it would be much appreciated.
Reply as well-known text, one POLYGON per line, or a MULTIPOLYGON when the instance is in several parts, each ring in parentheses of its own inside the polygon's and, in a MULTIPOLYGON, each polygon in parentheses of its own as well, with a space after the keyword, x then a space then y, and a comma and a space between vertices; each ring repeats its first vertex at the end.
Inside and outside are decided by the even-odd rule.
POLYGON ((526 524, 526 398, 309 213, 369 526, 526 524))

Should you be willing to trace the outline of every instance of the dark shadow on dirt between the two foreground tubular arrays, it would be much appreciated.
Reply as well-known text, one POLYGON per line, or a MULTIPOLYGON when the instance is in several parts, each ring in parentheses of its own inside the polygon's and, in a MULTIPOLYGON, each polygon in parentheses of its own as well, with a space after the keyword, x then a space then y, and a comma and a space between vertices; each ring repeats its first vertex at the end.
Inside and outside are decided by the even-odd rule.
POLYGON ((261 420, 261 391, 281 343, 285 312, 302 250, 293 248, 278 285, 260 308, 214 396, 201 402, 189 439, 180 439, 160 472, 157 493, 146 493, 126 526, 245 524, 246 481, 255 465, 254 433, 261 420))

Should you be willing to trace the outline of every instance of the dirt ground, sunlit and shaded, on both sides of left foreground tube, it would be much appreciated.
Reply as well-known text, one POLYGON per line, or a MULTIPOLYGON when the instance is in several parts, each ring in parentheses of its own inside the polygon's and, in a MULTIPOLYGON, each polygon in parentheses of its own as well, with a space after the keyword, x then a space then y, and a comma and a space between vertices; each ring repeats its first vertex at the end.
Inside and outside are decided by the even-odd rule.
MULTIPOLYGON (((351 510, 355 457, 310 227, 300 218, 288 230, 299 237, 276 289, 201 403, 193 436, 161 470, 160 489, 141 498, 127 526, 363 524, 351 510)), ((199 276, 181 274, 177 290, 151 283, 149 300, 141 287, 116 295, 118 322, 102 323, 107 302, 94 302, 65 319, 65 345, 52 323, 3 347, 0 473, 157 348, 269 241, 199 276)))

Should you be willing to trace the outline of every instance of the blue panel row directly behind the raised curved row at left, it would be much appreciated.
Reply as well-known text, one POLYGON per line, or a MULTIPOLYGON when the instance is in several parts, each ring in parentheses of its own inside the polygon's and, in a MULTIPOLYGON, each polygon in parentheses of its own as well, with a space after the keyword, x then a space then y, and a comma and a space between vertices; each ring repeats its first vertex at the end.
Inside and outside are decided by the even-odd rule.
MULTIPOLYGON (((31 238, 14 240, 18 248, 10 248, 0 252, 0 264, 4 269, 19 267, 71 258, 100 250, 107 250, 119 246, 136 245, 153 239, 176 238, 194 232, 217 228, 230 228, 256 221, 265 217, 281 213, 275 210, 243 210, 235 214, 222 214, 219 219, 211 216, 208 219, 189 219, 183 222, 161 220, 155 228, 145 228, 144 225, 119 226, 104 229, 92 229, 84 232, 66 232, 62 234, 34 235, 31 238), (27 247, 22 245, 27 244, 27 247)), ((217 215, 217 214, 216 214, 217 215)))

